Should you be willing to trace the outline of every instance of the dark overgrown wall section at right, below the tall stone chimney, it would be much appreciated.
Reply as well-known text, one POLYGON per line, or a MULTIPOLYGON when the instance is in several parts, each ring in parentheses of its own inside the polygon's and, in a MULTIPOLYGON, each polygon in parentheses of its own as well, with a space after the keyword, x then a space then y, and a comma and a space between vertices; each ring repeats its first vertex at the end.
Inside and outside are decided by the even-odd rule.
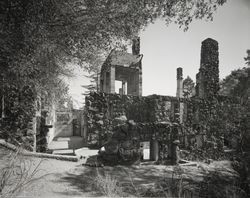
POLYGON ((223 96, 212 100, 193 98, 186 102, 188 113, 184 128, 205 134, 206 138, 201 148, 189 147, 196 157, 218 159, 224 157, 224 146, 236 150, 246 148, 249 105, 241 104, 238 98, 223 96))

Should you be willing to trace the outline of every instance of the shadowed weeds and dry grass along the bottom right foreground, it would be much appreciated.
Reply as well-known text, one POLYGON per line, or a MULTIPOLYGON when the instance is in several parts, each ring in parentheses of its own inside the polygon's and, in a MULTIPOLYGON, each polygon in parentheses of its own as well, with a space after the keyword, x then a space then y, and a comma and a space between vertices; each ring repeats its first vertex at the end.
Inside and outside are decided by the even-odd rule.
MULTIPOLYGON (((187 168, 186 168, 187 169, 187 168)), ((227 174, 222 174, 225 170, 197 172, 199 178, 194 179, 191 170, 183 169, 181 166, 175 166, 173 170, 166 169, 166 175, 163 173, 159 180, 145 181, 145 184, 134 182, 129 169, 121 169, 126 177, 115 177, 112 172, 105 172, 104 169, 97 170, 94 185, 95 189, 106 197, 175 197, 175 198, 244 198, 245 192, 237 185, 237 178, 228 178, 227 174), (172 172, 169 172, 172 171, 172 172), (100 173, 101 172, 101 173, 100 173), (119 179, 118 179, 119 178, 119 179), (197 180, 198 179, 198 180, 197 180), (232 182, 235 183, 232 183, 232 182)), ((202 170, 203 171, 203 170, 202 170)))

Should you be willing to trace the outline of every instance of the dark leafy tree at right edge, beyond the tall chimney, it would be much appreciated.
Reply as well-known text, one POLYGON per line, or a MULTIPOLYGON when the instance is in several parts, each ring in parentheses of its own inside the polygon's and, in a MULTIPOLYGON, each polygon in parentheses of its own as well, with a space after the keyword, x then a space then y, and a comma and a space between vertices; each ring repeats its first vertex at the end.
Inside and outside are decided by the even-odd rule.
MULTIPOLYGON (((249 51, 249 50, 248 50, 249 51)), ((247 61, 247 58, 245 58, 247 61)), ((228 126, 235 129, 233 134, 239 140, 239 145, 249 149, 248 141, 250 140, 250 67, 244 67, 231 72, 221 82, 220 93, 229 97, 240 99, 241 106, 232 109, 228 114, 228 126)), ((240 150, 242 150, 242 148, 240 150)))

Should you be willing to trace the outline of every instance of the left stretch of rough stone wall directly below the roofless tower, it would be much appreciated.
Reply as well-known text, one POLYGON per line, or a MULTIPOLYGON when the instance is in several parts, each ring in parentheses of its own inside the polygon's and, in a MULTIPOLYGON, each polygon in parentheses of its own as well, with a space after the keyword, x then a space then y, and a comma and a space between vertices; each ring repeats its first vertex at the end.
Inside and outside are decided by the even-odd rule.
POLYGON ((117 117, 126 116, 136 123, 147 123, 143 129, 145 134, 146 131, 152 134, 155 131, 150 129, 150 123, 152 126, 154 123, 178 123, 182 99, 159 95, 138 97, 92 92, 85 101, 88 142, 101 145, 112 136, 117 117))

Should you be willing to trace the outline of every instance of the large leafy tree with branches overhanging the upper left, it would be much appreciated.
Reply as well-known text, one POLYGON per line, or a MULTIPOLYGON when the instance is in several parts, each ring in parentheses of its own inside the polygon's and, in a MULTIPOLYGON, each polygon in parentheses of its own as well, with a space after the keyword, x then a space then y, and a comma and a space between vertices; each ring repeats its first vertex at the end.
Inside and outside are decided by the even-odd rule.
POLYGON ((70 73, 68 63, 93 71, 99 57, 113 47, 124 48, 122 41, 130 40, 157 18, 186 29, 193 19, 212 19, 214 10, 225 1, 1 1, 1 98, 8 97, 8 111, 16 116, 13 123, 18 123, 15 130, 21 123, 24 129, 34 116, 31 103, 37 95, 58 91, 60 77, 70 73))

